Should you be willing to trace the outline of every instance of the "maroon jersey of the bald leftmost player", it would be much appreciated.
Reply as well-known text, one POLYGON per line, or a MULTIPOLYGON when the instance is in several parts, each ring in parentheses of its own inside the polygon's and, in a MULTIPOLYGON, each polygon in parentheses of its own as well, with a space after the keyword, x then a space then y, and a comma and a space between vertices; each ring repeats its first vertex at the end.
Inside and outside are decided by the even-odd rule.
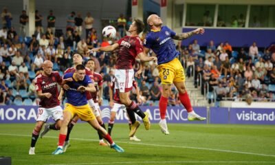
POLYGON ((43 108, 53 108, 60 104, 58 100, 58 88, 57 83, 62 83, 62 78, 58 72, 52 72, 50 76, 43 76, 39 74, 34 79, 36 91, 42 91, 42 94, 50 93, 52 97, 50 98, 41 98, 39 106, 43 108))

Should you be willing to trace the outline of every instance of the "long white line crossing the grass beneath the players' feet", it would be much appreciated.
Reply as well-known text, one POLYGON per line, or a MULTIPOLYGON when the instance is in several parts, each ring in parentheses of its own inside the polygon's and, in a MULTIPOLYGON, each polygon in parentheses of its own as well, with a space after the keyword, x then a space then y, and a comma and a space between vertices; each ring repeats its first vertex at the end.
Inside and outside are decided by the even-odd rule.
MULTIPOLYGON (((19 134, 10 134, 10 133, 0 133, 0 135, 10 135, 10 136, 24 136, 24 137, 30 137, 30 135, 19 135, 19 134)), ((56 139, 55 136, 46 136, 49 138, 56 139)), ((82 139, 82 138, 70 138, 71 140, 81 140, 81 141, 92 141, 92 142, 98 142, 98 140, 90 140, 90 139, 82 139)), ((222 150, 222 149, 213 149, 213 148, 201 148, 201 147, 193 147, 193 146, 171 146, 171 145, 161 145, 161 144, 147 144, 142 142, 121 142, 121 141, 115 141, 118 143, 124 143, 124 144, 135 144, 135 145, 143 145, 143 146, 160 146, 160 147, 168 147, 168 148, 189 148, 189 149, 197 149, 197 150, 206 150, 206 151, 218 151, 223 153, 241 153, 246 155, 257 155, 257 156, 265 156, 265 157, 275 157, 275 155, 267 155, 263 153, 248 153, 248 152, 241 152, 241 151, 231 151, 231 150, 222 150)))

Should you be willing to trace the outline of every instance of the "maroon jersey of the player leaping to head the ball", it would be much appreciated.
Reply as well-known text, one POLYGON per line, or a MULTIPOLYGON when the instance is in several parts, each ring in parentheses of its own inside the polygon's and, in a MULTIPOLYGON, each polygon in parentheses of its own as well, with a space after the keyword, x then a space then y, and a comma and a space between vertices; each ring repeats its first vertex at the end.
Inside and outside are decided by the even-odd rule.
POLYGON ((124 36, 118 41, 118 59, 116 69, 132 69, 137 54, 143 52, 142 41, 138 36, 124 36))

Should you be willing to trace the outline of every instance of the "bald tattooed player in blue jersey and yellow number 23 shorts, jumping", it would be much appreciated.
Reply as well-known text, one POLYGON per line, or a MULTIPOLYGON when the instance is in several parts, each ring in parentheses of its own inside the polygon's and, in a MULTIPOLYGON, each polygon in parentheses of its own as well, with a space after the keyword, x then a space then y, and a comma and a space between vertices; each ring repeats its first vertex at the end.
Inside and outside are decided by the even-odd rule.
POLYGON ((173 41, 173 39, 187 39, 194 34, 203 34, 204 30, 203 28, 197 28, 192 32, 176 34, 167 26, 162 26, 162 19, 156 14, 151 14, 147 19, 147 23, 151 28, 151 32, 146 35, 146 39, 144 40, 144 53, 147 54, 151 49, 157 55, 157 69, 159 70, 159 77, 162 80, 163 89, 162 96, 159 99, 159 111, 161 116, 159 126, 162 128, 162 132, 168 135, 169 131, 165 115, 172 83, 179 91, 181 104, 183 104, 186 111, 188 111, 188 120, 206 120, 206 118, 197 115, 192 109, 184 83, 184 67, 181 66, 177 58, 179 52, 177 52, 173 41))

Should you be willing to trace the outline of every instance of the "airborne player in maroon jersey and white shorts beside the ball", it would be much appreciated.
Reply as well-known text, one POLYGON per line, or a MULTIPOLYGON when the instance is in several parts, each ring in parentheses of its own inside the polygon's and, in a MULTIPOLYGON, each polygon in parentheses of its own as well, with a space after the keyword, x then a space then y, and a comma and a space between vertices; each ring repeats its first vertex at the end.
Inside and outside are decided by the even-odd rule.
POLYGON ((133 84, 132 78, 134 75, 133 65, 135 64, 135 57, 138 56, 140 60, 144 62, 156 60, 155 57, 148 57, 143 53, 142 41, 140 41, 140 37, 138 36, 143 30, 144 23, 139 19, 135 19, 129 28, 130 36, 124 36, 118 43, 114 43, 113 45, 97 47, 91 50, 91 52, 111 52, 119 48, 118 58, 115 63, 115 78, 118 80, 118 87, 120 89, 120 101, 126 106, 126 111, 132 122, 129 137, 134 135, 138 126, 140 126, 140 122, 135 120, 135 114, 133 112, 142 118, 146 130, 150 128, 148 113, 143 113, 140 107, 129 98, 133 84))

